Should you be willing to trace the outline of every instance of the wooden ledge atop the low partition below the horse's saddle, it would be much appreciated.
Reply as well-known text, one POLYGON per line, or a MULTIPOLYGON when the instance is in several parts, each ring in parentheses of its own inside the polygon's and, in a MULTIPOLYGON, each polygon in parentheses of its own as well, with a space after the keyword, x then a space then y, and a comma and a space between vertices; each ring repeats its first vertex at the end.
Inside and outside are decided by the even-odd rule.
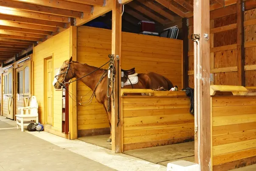
POLYGON ((125 94, 139 94, 143 96, 186 96, 185 91, 154 91, 151 89, 121 89, 121 96, 125 94))

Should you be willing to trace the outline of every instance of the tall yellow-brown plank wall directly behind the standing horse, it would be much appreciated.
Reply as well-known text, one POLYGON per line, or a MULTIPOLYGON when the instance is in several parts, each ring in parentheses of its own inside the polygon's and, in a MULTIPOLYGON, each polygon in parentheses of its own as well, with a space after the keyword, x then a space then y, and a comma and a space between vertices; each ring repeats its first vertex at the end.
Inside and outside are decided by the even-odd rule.
MULTIPOLYGON (((111 30, 78 27, 77 61, 99 67, 109 60, 111 54, 111 30)), ((166 76, 181 90, 182 86, 182 41, 148 35, 122 33, 123 69, 136 68, 138 73, 150 71, 166 76)), ((90 89, 81 81, 77 83, 77 100, 90 89)), ((86 101, 92 92, 82 98, 86 101)), ((93 100, 87 107, 78 106, 79 136, 107 133, 107 114, 103 106, 93 100)), ((108 129, 109 130, 109 129, 108 129)))

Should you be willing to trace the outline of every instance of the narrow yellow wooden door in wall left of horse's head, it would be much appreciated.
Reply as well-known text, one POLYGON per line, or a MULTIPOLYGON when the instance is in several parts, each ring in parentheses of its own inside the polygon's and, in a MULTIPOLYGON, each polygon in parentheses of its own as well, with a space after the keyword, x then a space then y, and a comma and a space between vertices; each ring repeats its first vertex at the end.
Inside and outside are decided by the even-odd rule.
POLYGON ((46 123, 53 124, 53 66, 52 58, 46 60, 46 123))

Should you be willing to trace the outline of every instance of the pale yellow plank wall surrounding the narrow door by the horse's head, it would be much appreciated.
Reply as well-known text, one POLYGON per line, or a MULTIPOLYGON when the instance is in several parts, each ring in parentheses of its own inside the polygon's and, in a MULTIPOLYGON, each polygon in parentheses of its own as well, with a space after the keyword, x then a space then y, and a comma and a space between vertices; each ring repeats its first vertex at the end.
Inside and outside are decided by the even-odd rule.
MULTIPOLYGON (((53 36, 34 47, 34 95, 39 104, 39 122, 45 124, 45 58, 53 57, 53 77, 55 69, 59 69, 70 57, 70 29, 53 36)), ((61 133, 62 129, 62 91, 53 88, 53 128, 61 133)))

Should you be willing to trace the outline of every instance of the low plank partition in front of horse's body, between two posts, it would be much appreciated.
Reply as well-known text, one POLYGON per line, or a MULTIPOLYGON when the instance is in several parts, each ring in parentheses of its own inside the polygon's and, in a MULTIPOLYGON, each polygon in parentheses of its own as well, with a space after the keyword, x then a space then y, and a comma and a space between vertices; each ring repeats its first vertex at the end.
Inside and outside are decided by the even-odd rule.
POLYGON ((124 151, 194 139, 194 116, 185 92, 122 97, 124 151))

